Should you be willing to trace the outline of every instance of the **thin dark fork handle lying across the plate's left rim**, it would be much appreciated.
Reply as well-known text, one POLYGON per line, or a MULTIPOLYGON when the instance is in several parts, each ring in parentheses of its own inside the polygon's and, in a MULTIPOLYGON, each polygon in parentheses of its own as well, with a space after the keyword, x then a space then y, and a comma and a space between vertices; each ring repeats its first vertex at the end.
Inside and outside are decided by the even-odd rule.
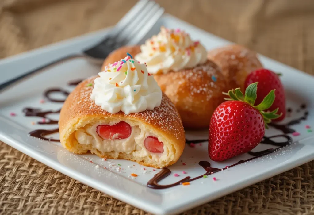
POLYGON ((37 72, 40 72, 41 70, 46 69, 47 67, 51 67, 51 66, 56 65, 57 63, 61 63, 61 62, 63 62, 63 61, 70 60, 70 59, 74 59, 74 58, 78 58, 78 57, 85 57, 85 56, 84 56, 83 54, 71 54, 71 55, 67 55, 67 56, 61 57, 61 58, 59 58, 59 59, 57 59, 57 60, 54 60, 54 61, 52 61, 52 62, 50 62, 50 63, 47 63, 47 64, 44 65, 44 66, 37 67, 37 68, 35 68, 34 70, 31 70, 31 71, 29 71, 29 72, 27 72, 27 73, 24 73, 23 75, 20 75, 20 76, 18 76, 18 77, 16 77, 16 78, 13 78, 13 79, 11 79, 11 80, 9 80, 9 81, 7 81, 7 82, 1 84, 1 85, 0 85, 0 92, 1 92, 2 90, 4 90, 5 88, 11 86, 12 84, 14 84, 14 83, 16 83, 16 82, 18 82, 18 81, 20 81, 20 80, 26 78, 26 77, 29 77, 29 76, 32 75, 32 74, 35 74, 35 73, 37 73, 37 72))

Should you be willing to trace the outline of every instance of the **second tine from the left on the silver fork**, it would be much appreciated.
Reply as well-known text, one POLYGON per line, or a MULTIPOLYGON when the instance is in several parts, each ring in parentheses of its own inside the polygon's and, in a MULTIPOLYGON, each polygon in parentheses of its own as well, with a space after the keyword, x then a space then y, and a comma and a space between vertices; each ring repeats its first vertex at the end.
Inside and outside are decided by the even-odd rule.
POLYGON ((128 37, 129 33, 132 32, 139 22, 149 13, 149 11, 154 7, 155 3, 149 1, 146 6, 137 14, 136 18, 132 20, 130 24, 121 32, 121 34, 116 36, 116 43, 120 43, 122 40, 128 37))

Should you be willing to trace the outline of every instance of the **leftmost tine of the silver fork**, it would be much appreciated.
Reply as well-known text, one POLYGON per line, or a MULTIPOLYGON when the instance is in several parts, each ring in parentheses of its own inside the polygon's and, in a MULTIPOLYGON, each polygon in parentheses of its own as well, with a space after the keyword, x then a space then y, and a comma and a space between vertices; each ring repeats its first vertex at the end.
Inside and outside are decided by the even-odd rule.
POLYGON ((112 29, 113 37, 114 35, 119 34, 121 31, 124 30, 125 26, 127 26, 130 22, 132 22, 133 18, 140 12, 149 0, 140 0, 138 1, 128 12, 125 14, 122 19, 114 26, 112 29))

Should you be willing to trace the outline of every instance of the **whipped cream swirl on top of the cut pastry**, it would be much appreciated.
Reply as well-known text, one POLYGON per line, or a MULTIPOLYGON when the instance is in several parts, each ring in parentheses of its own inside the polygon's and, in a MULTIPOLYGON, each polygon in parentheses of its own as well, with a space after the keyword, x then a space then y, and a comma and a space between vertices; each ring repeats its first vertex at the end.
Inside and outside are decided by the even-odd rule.
POLYGON ((103 110, 130 114, 160 106, 160 87, 147 72, 146 65, 130 56, 109 64, 98 74, 90 98, 103 110))

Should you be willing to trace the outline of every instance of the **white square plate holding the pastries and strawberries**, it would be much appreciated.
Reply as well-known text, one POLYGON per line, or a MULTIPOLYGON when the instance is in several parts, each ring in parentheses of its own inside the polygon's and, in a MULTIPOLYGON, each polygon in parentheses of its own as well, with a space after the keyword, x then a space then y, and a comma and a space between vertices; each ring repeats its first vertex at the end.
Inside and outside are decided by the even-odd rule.
MULTIPOLYGON (((170 15, 163 16, 144 40, 158 33, 161 25, 186 30, 193 39, 200 40, 208 50, 230 43, 170 15)), ((0 83, 61 56, 78 53, 80 50, 96 44, 106 35, 107 31, 101 30, 3 59, 0 61, 0 83)), ((75 58, 55 67, 49 67, 1 93, 0 140, 65 175, 145 211, 154 214, 183 212, 313 159, 314 133, 307 131, 305 126, 314 127, 314 96, 312 94, 314 92, 314 78, 265 56, 260 56, 260 59, 265 67, 283 73, 281 79, 287 94, 287 105, 292 109, 291 116, 287 117, 283 123, 299 119, 304 116, 305 112, 309 113, 306 120, 300 120, 300 123, 291 126, 300 132, 300 136, 294 137, 288 134, 293 138, 294 144, 258 159, 219 171, 214 175, 209 175, 208 178, 192 181, 188 186, 178 185, 168 189, 151 189, 146 184, 160 170, 143 167, 131 161, 104 161, 95 155, 75 155, 63 149, 58 142, 42 141, 28 136, 32 130, 52 129, 56 128, 57 125, 38 124, 42 118, 24 116, 23 109, 25 107, 58 110, 62 103, 48 101, 43 104, 40 103, 40 100, 44 99, 43 92, 46 89, 62 88, 71 91, 73 86, 68 85, 69 81, 84 79, 100 71, 99 66, 91 64, 84 58, 75 58), (306 110, 300 108, 301 104, 306 104, 306 110), (11 112, 16 113, 16 116, 10 116, 11 112), (32 122, 36 124, 32 125, 32 122), (97 165, 100 168, 96 168, 97 165), (137 174, 138 177, 130 177, 131 173, 137 174), (214 181, 213 177, 217 180, 214 181)), ((60 94, 52 96, 55 98, 62 97, 60 94)), ((58 119, 57 114, 47 115, 47 117, 58 119)), ((277 134, 281 135, 283 132, 271 127, 265 136, 277 134)), ((57 134, 52 136, 57 137, 57 134)), ((187 133, 187 139, 204 139, 207 136, 208 131, 187 133)), ((274 141, 282 141, 283 138, 277 139, 274 141)), ((272 147, 267 144, 259 144, 253 151, 272 147)), ((198 165, 201 160, 209 161, 212 167, 224 168, 240 160, 250 158, 252 158, 251 155, 243 154, 228 161, 217 163, 208 158, 207 142, 196 144, 194 148, 187 146, 181 159, 169 167, 172 172, 171 175, 162 180, 160 184, 174 183, 186 176, 196 177, 204 174, 205 170, 198 165), (182 171, 187 173, 183 174, 182 171), (173 176, 174 173, 179 176, 173 176)))

